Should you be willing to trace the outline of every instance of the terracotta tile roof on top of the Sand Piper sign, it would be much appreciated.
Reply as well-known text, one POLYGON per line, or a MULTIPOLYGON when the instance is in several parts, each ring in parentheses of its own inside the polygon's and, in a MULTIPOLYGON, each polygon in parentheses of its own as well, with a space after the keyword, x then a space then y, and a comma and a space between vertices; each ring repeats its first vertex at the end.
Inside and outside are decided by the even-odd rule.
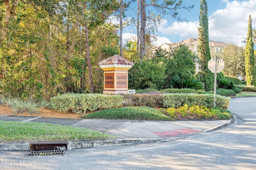
POLYGON ((110 64, 121 64, 121 65, 133 65, 131 61, 126 60, 120 55, 113 55, 105 60, 100 61, 99 65, 110 65, 110 64))

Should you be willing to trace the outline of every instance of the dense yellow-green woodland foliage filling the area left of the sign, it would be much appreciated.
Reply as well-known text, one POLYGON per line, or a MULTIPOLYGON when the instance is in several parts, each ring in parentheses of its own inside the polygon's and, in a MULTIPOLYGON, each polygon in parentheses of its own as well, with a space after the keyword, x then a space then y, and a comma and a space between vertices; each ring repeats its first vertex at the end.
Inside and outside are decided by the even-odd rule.
POLYGON ((118 3, 90 2, 82 10, 77 1, 18 1, 15 17, 6 29, 2 17, 6 9, 1 2, 0 29, 7 32, 0 43, 0 94, 40 100, 66 92, 89 91, 85 20, 94 91, 102 92, 103 71, 98 62, 118 53, 119 41, 116 26, 104 20, 118 3))

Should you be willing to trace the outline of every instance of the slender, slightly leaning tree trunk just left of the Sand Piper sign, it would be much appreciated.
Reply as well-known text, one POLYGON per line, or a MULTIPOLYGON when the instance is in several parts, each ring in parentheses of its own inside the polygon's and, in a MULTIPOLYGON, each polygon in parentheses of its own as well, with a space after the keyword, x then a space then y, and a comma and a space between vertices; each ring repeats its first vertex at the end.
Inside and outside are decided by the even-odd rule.
POLYGON ((88 26, 87 26, 86 21, 84 24, 84 34, 85 34, 86 59, 87 59, 87 64, 88 64, 89 89, 90 89, 90 93, 94 93, 93 79, 92 79, 92 63, 91 63, 90 47, 89 47, 89 39, 88 39, 88 26))

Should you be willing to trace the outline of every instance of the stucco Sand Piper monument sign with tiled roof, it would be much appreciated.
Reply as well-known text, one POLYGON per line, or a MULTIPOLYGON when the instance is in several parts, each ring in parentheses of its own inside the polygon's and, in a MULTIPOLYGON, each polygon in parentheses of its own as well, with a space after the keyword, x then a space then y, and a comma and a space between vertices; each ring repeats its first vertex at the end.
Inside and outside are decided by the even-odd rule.
POLYGON ((128 70, 134 65, 119 55, 113 55, 99 63, 104 70, 104 94, 127 93, 128 70))

